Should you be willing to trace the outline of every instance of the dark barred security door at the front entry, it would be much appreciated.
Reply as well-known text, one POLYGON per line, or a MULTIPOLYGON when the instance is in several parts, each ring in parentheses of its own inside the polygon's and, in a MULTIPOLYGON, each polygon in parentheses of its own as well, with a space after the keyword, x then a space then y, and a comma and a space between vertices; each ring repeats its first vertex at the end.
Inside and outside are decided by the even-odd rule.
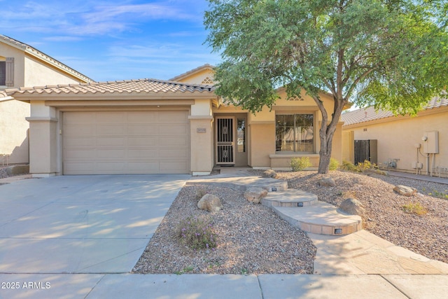
POLYGON ((216 118, 216 164, 235 165, 235 118, 216 118))

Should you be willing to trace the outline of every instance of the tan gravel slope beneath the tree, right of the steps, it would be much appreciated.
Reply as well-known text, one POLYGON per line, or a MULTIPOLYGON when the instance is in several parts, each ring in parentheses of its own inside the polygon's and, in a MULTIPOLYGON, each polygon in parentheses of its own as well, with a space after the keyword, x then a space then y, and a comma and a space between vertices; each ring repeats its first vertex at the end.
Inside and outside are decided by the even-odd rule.
POLYGON ((365 208, 363 228, 397 246, 414 251, 434 260, 448 263, 448 185, 398 176, 355 174, 333 171, 279 172, 277 179, 288 181, 289 188, 306 190, 318 200, 339 204, 355 197, 365 208), (331 177, 335 187, 318 186, 318 179, 331 177), (416 188, 412 197, 393 191, 397 185, 416 188), (433 195, 433 196, 431 196, 433 195), (444 197, 447 199, 435 197, 444 197), (428 211, 424 215, 408 214, 405 204, 421 204, 428 211))

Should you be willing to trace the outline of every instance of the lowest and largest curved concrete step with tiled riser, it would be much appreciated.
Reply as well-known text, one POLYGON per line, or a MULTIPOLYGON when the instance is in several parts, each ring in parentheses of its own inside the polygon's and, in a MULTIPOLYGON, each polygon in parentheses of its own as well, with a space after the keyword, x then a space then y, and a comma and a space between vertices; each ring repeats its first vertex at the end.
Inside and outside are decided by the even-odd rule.
POLYGON ((332 204, 317 202, 309 207, 272 207, 291 225, 319 235, 349 235, 362 230, 362 219, 357 215, 342 214, 332 204))

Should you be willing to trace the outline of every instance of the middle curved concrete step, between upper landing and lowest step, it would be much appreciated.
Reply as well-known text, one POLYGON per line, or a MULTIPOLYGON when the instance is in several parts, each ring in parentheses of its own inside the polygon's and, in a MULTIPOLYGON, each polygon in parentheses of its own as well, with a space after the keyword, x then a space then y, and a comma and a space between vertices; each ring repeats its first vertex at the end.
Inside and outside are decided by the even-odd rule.
POLYGON ((297 189, 269 192, 261 200, 265 207, 310 207, 317 202, 317 195, 297 189))

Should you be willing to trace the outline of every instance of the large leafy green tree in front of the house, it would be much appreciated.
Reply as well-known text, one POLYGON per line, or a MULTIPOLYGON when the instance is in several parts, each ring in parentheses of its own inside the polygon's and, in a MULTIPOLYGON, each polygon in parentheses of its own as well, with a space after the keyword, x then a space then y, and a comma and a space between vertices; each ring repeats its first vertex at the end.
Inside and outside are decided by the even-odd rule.
POLYGON ((416 113, 447 85, 447 0, 209 0, 216 93, 252 113, 302 88, 322 115, 327 173, 344 105, 416 113), (325 111, 319 93, 332 95, 325 111))

